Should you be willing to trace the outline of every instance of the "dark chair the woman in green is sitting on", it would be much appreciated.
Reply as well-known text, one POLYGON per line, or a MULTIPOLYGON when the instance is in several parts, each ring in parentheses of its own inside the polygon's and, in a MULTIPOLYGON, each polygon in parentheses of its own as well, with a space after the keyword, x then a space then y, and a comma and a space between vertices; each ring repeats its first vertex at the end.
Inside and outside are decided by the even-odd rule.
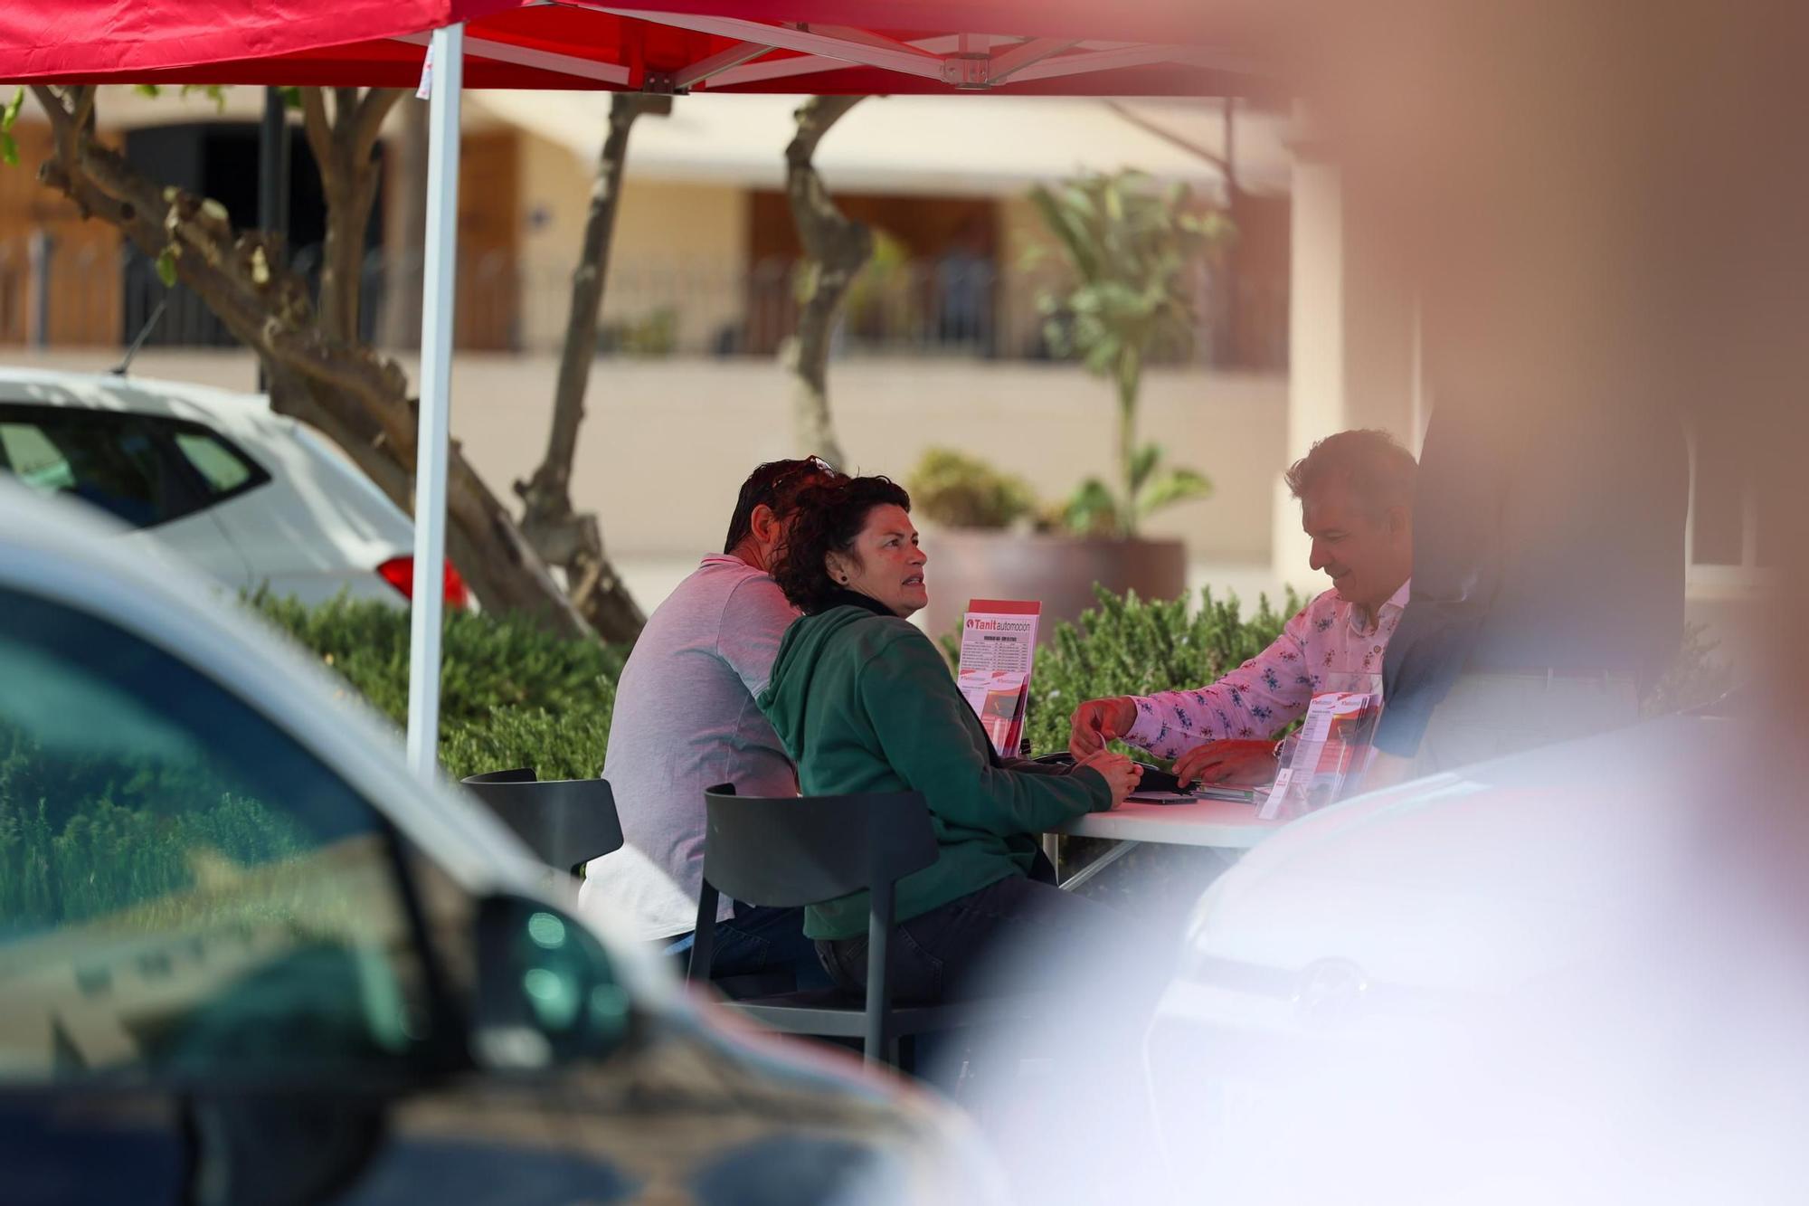
POLYGON ((935 862, 935 831, 917 791, 758 799, 733 784, 704 793, 704 891, 689 980, 707 980, 720 893, 753 905, 794 909, 857 891, 867 914, 867 1001, 838 989, 725 1001, 785 1034, 859 1038, 870 1063, 899 1063, 899 1039, 1020 1018, 1011 998, 955 1005, 892 1005, 888 951, 897 882, 935 862))

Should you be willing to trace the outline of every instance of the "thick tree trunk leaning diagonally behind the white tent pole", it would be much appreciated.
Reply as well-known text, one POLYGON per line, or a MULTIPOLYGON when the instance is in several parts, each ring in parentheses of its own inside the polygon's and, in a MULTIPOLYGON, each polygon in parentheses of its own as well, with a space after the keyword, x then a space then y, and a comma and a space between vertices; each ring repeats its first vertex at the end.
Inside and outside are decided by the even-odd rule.
MULTIPOLYGON (((72 199, 85 217, 116 226, 145 255, 172 263, 177 279, 264 362, 271 407, 320 427, 398 507, 412 512, 416 407, 402 368, 327 333, 308 282, 280 264, 270 235, 235 234, 217 201, 161 188, 96 143, 92 87, 34 85, 33 92, 54 134, 52 158, 38 168, 38 179, 72 199)), ((376 105, 360 105, 355 114, 369 123, 374 139, 382 120, 376 105)), ((356 308, 349 317, 355 330, 356 308)), ((526 612, 554 632, 588 632, 456 447, 447 512, 449 550, 483 607, 526 612)))

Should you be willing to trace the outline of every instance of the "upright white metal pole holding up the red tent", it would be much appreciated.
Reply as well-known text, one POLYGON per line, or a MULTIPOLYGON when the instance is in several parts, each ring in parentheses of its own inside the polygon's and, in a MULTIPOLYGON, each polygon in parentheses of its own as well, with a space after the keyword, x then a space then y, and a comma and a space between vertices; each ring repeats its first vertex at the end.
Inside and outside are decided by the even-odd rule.
POLYGON ((427 272, 421 286, 421 413, 414 444, 414 594, 409 630, 409 768, 440 773, 440 617, 445 610, 447 442, 452 418, 452 299, 458 282, 458 138, 465 27, 427 49, 427 272))

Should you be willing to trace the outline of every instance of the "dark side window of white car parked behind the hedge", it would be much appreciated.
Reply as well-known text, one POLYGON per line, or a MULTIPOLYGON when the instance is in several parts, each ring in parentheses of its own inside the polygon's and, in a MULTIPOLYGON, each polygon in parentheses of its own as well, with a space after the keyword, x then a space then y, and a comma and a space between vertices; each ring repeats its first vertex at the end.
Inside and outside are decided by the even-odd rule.
POLYGON ((157 447, 150 424, 132 415, 0 413, 0 467, 25 485, 80 498, 132 527, 195 509, 179 465, 157 447))

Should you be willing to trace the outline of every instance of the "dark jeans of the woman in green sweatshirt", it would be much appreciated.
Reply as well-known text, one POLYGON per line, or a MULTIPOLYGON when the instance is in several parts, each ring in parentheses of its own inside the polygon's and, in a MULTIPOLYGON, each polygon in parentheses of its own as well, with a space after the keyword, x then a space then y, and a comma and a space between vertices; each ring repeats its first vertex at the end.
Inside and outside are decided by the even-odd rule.
MULTIPOLYGON (((1051 884, 1009 876, 892 931, 892 1000, 935 1003, 1026 992, 1120 947, 1122 916, 1051 884)), ((816 943, 847 992, 867 991, 867 936, 816 943)))

